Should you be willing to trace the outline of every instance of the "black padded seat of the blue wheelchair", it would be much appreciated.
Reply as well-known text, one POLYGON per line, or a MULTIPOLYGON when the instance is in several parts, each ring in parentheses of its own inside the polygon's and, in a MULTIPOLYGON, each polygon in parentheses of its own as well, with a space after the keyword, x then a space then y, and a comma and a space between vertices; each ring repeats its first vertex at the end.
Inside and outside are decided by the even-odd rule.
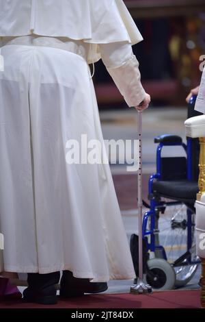
POLYGON ((182 201, 184 203, 195 203, 198 193, 198 184, 195 181, 182 179, 177 181, 157 180, 153 182, 152 192, 154 195, 182 201))

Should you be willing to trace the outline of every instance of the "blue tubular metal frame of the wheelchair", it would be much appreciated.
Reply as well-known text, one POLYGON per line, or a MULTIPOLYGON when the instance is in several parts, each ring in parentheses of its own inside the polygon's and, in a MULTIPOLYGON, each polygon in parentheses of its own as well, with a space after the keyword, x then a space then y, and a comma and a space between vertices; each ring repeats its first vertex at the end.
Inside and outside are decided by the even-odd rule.
MULTIPOLYGON (((152 196, 153 194, 153 182, 154 180, 160 180, 161 179, 161 151, 164 146, 181 146, 182 149, 187 154, 187 179, 191 180, 192 179, 192 159, 191 159, 191 138, 187 138, 187 145, 184 143, 159 143, 157 149, 156 149, 156 173, 152 174, 149 179, 148 183, 148 193, 149 196, 152 196)), ((170 201, 167 202, 167 206, 173 206, 176 204, 181 204, 182 201, 170 201)), ((156 240, 155 240, 155 234, 158 233, 159 231, 155 230, 155 223, 156 223, 156 211, 157 207, 163 206, 163 202, 157 201, 156 198, 151 197, 150 198, 150 210, 146 212, 143 216, 143 223, 142 223, 142 236, 143 238, 146 239, 146 250, 147 251, 156 251, 160 250, 162 253, 162 256, 165 260, 167 260, 166 252, 163 247, 163 245, 156 245, 156 240), (148 225, 148 219, 150 218, 150 230, 147 230, 147 225, 148 225), (148 242, 147 236, 150 235, 150 243, 148 242)), ((192 222, 192 214, 193 212, 187 208, 187 251, 192 247, 193 243, 193 238, 192 238, 192 227, 194 226, 194 223, 192 222)), ((200 262, 200 260, 191 260, 191 256, 188 257, 189 264, 197 264, 200 262)), ((178 266, 178 260, 173 264, 174 266, 178 266)))

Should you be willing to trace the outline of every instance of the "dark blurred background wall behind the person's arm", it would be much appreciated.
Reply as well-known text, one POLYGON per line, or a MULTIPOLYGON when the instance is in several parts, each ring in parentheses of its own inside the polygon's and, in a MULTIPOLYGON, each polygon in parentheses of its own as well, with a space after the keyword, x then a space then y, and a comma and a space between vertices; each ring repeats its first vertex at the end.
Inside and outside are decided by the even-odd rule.
MULTIPOLYGON (((200 82, 200 55, 205 54, 205 0, 124 0, 144 40, 133 46, 144 88, 152 106, 184 105, 200 82)), ((100 109, 125 103, 102 62, 94 84, 100 109)))

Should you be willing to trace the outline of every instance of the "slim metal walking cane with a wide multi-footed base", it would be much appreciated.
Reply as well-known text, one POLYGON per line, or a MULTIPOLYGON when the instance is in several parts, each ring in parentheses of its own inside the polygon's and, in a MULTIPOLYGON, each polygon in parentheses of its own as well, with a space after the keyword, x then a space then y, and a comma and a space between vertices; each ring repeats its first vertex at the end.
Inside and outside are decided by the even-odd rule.
POLYGON ((137 115, 137 132, 139 140, 139 169, 137 172, 137 186, 138 186, 138 230, 139 230, 139 278, 137 284, 131 286, 131 293, 151 293, 152 287, 143 282, 143 245, 142 245, 142 193, 141 193, 141 182, 142 182, 142 145, 141 145, 141 111, 138 111, 137 115))

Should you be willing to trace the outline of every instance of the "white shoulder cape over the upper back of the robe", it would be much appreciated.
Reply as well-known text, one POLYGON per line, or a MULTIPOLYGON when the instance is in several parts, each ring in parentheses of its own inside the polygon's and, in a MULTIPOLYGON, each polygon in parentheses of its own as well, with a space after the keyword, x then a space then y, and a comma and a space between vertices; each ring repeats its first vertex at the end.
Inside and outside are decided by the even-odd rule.
POLYGON ((68 37, 92 43, 143 38, 122 0, 0 0, 0 36, 68 37))

